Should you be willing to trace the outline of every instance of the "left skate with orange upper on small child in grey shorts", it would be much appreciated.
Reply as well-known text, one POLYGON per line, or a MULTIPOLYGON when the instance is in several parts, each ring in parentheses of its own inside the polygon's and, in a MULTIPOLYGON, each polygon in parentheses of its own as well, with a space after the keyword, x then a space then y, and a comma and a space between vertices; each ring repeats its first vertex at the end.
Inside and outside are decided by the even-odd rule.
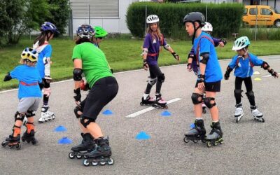
POLYGON ((10 134, 9 137, 5 139, 5 141, 2 142, 1 144, 3 147, 6 147, 7 145, 10 148, 15 147, 17 150, 20 149, 20 127, 18 126, 13 126, 13 134, 10 134), (16 137, 14 137, 16 135, 16 137))

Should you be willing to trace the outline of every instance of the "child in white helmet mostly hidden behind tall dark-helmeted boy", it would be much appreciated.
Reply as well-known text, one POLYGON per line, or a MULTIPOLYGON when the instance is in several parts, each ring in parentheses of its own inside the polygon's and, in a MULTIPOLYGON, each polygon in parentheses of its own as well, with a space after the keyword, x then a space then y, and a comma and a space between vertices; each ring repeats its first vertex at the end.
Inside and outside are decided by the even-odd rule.
MULTIPOLYGON (((211 36, 211 32, 213 31, 213 27, 211 23, 205 22, 204 27, 202 27, 202 31, 205 31, 207 34, 211 36)), ((222 38, 214 38, 211 37, 212 40, 214 41, 215 47, 220 46, 224 47, 227 41, 225 41, 222 38)), ((200 66, 199 62, 197 62, 197 59, 195 59, 195 48, 193 47, 190 50, 190 53, 188 54, 188 64, 187 64, 187 69, 188 71, 193 71, 195 75, 197 76, 198 72, 198 67, 200 66)), ((203 99, 205 98, 205 92, 203 93, 203 99)), ((206 105, 202 101, 202 113, 206 113, 206 105)))

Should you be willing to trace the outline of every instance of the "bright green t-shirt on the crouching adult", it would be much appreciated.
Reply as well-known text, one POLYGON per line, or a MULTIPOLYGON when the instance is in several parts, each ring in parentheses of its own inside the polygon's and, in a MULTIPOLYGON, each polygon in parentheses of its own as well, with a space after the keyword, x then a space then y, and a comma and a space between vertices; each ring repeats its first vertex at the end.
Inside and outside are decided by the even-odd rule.
POLYGON ((72 59, 82 59, 83 73, 90 87, 100 78, 113 76, 104 52, 93 43, 85 42, 76 45, 72 59))

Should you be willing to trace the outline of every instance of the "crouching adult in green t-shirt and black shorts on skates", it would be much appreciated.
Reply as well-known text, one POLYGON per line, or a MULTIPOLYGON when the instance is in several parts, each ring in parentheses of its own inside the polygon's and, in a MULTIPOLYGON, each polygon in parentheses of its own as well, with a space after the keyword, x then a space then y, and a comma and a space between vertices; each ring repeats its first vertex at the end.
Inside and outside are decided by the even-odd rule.
POLYGON ((99 112, 106 104, 116 97, 118 93, 118 83, 113 77, 109 64, 106 60, 104 52, 97 48, 92 43, 94 36, 94 29, 90 25, 81 25, 77 29, 78 38, 76 46, 73 48, 73 79, 74 85, 74 99, 78 106, 80 106, 80 80, 84 74, 85 79, 90 87, 87 94, 85 104, 83 106, 83 114, 80 116, 80 128, 83 133, 83 141, 80 145, 72 149, 73 158, 81 158, 80 155, 85 155, 83 164, 90 165, 104 165, 113 164, 111 156, 111 147, 109 140, 104 138, 102 130, 95 122, 99 112), (94 142, 92 141, 94 139, 94 142), (97 144, 97 146, 94 146, 97 144), (80 154, 80 152, 88 151, 90 153, 80 154))

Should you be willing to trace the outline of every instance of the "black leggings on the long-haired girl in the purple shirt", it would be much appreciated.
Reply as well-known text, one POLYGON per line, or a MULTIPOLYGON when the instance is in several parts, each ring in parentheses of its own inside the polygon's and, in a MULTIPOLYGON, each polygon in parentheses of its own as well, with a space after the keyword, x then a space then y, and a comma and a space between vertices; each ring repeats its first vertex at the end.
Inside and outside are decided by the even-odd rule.
MULTIPOLYGON (((162 76, 162 71, 160 71, 160 67, 158 64, 156 65, 149 65, 149 71, 150 71, 150 78, 158 78, 159 76, 162 76)), ((151 89, 153 85, 150 85, 149 83, 147 84, 145 93, 150 94, 151 89)), ((162 82, 160 80, 157 81, 155 92, 160 93, 160 90, 162 88, 162 82)))

